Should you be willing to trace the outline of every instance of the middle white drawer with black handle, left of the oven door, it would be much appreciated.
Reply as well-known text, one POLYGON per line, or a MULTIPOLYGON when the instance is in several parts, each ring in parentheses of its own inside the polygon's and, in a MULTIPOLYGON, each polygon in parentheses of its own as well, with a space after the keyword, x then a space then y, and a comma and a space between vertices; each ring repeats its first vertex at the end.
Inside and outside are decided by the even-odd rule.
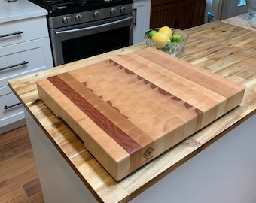
POLYGON ((8 80, 53 67, 49 38, 0 47, 0 87, 8 80))

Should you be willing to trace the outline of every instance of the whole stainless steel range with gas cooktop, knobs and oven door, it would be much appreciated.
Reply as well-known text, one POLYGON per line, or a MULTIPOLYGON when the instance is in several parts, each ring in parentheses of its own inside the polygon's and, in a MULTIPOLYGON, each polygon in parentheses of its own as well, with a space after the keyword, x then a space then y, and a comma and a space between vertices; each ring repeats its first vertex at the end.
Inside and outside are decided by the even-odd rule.
POLYGON ((133 44, 133 0, 30 0, 47 9, 54 65, 133 44))

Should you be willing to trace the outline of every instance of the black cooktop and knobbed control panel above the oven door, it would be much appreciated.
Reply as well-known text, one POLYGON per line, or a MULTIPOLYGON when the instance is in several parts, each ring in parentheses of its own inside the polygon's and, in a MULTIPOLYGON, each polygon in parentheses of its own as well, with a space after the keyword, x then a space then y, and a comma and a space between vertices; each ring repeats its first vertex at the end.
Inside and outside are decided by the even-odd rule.
POLYGON ((48 11, 51 29, 133 12, 133 0, 29 0, 48 11))

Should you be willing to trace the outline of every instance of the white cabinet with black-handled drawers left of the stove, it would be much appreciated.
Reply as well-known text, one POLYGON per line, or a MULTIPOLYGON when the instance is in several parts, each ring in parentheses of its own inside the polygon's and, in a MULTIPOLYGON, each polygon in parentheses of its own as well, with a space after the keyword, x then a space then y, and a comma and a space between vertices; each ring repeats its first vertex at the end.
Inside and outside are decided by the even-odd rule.
POLYGON ((0 23, 0 134, 24 120, 8 80, 52 67, 45 16, 0 23))

